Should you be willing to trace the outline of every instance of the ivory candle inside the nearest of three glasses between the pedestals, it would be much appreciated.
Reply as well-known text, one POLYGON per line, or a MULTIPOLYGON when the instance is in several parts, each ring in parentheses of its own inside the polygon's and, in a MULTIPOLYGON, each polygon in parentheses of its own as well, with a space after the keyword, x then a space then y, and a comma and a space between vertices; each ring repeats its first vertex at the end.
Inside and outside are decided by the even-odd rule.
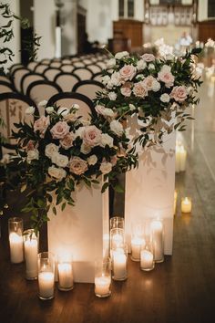
POLYGON ((127 256, 123 251, 113 251, 113 274, 115 280, 127 278, 127 256))

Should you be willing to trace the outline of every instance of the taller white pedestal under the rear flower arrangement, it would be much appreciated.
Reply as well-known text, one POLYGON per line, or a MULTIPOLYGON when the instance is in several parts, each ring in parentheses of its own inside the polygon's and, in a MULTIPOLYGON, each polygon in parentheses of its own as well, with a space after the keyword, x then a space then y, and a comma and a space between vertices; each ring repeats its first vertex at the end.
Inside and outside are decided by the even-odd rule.
MULTIPOLYGON (((131 137, 137 135, 135 117, 128 120, 131 137)), ((126 174, 125 230, 130 244, 131 224, 159 217, 164 222, 164 253, 172 255, 175 191, 175 133, 162 146, 138 146, 138 169, 126 174)))

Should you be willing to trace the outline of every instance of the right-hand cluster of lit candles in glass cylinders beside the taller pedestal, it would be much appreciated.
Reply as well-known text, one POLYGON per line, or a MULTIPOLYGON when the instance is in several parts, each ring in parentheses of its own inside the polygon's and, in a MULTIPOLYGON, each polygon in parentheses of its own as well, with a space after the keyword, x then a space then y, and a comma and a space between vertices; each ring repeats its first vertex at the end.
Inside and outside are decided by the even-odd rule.
MULTIPOLYGON (((141 270, 150 271, 155 263, 164 261, 164 227, 160 219, 145 224, 132 224, 130 258, 139 262, 141 270)), ((110 219, 110 257, 96 266, 95 293, 97 297, 110 295, 111 278, 116 281, 128 277, 128 245, 125 242, 124 219, 110 219), (111 275, 112 274, 112 275, 111 275)))

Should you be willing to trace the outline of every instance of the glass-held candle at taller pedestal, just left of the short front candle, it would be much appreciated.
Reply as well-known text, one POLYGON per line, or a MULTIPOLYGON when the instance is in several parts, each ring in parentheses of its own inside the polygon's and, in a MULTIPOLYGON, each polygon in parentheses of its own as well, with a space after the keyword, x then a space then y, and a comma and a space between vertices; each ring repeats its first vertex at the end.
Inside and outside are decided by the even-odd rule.
POLYGON ((140 250, 142 245, 145 244, 143 237, 143 225, 142 224, 132 224, 132 234, 131 234, 131 260, 140 261, 140 250))

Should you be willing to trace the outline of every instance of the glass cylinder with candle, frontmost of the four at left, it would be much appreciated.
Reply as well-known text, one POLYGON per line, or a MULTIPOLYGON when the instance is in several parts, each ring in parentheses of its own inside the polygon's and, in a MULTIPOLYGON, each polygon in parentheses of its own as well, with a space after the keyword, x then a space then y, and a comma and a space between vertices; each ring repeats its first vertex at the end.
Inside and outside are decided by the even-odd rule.
POLYGON ((46 300, 54 297, 55 257, 52 253, 38 254, 39 298, 46 300))

